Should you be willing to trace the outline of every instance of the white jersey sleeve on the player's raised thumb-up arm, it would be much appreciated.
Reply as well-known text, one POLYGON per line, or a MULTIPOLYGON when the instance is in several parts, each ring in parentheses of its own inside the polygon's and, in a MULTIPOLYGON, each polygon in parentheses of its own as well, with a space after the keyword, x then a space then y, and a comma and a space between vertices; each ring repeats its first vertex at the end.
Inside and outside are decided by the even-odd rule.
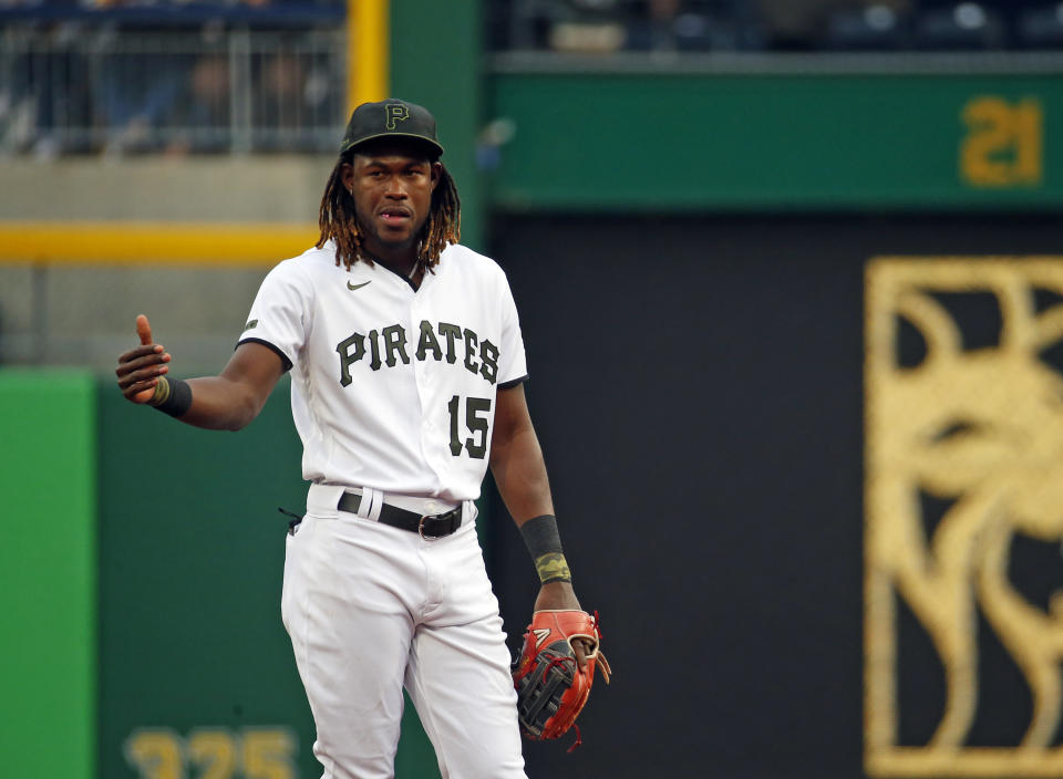
POLYGON ((268 346, 290 370, 310 331, 312 298, 310 280, 291 260, 281 262, 262 280, 237 345, 268 346))

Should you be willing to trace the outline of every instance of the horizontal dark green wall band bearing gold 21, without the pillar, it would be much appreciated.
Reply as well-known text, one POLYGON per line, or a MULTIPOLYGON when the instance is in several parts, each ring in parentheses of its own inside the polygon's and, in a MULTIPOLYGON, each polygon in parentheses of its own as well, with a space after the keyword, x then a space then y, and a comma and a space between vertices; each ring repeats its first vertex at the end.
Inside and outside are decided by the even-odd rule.
POLYGON ((488 117, 514 129, 486 184, 495 209, 1063 205, 1059 74, 721 74, 642 61, 592 73, 510 64, 485 85, 488 117))

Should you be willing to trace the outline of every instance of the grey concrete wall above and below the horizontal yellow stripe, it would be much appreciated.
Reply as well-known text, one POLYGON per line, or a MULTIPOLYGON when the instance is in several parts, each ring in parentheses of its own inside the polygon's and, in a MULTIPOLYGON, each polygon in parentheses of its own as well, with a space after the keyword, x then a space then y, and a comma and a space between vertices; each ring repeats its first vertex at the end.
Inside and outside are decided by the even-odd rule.
MULTIPOLYGON (((333 157, 0 163, 0 219, 313 225, 333 157)), ((194 229, 194 228, 189 228, 194 229)), ((290 256, 278 253, 277 261, 290 256)), ((0 362, 110 370, 146 313, 187 370, 216 371, 272 261, 234 267, 0 264, 0 362)))

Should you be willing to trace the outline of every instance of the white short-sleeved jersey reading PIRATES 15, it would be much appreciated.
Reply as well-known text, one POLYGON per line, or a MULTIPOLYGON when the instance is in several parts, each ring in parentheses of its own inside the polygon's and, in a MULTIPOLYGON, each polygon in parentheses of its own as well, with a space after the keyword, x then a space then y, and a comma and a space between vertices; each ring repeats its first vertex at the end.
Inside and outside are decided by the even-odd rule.
POLYGON ((380 263, 336 266, 336 248, 274 268, 240 343, 291 368, 302 475, 316 484, 475 500, 495 393, 526 378, 503 270, 448 246, 416 291, 380 263))

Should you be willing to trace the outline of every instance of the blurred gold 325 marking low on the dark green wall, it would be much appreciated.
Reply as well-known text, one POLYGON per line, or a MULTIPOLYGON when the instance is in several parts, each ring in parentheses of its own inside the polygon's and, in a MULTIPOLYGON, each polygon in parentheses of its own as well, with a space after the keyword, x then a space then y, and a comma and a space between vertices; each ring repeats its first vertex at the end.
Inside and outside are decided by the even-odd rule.
POLYGON ((299 739, 286 727, 138 728, 122 750, 141 779, 295 779, 299 739))

